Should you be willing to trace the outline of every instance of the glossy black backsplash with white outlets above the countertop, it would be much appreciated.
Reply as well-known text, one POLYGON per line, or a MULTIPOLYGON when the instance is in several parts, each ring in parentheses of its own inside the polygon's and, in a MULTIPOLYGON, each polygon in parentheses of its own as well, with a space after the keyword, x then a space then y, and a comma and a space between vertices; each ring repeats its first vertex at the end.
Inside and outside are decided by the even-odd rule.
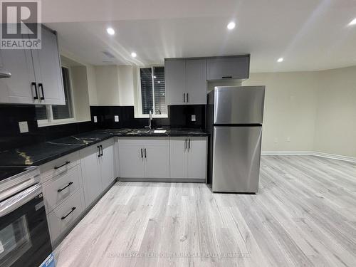
MULTIPOLYGON (((153 127, 205 128, 205 105, 173 105, 168 107, 168 118, 154 118, 153 127), (196 122, 192 122, 196 115, 196 122)), ((147 118, 135 118, 133 106, 90 106, 91 121, 38 127, 33 105, 0 104, 0 150, 24 145, 33 145, 81 132, 105 128, 142 128, 148 125, 147 118), (93 116, 98 123, 93 123, 93 116), (119 115, 119 122, 114 116, 119 115), (28 132, 20 133, 19 122, 28 123, 28 132)))

